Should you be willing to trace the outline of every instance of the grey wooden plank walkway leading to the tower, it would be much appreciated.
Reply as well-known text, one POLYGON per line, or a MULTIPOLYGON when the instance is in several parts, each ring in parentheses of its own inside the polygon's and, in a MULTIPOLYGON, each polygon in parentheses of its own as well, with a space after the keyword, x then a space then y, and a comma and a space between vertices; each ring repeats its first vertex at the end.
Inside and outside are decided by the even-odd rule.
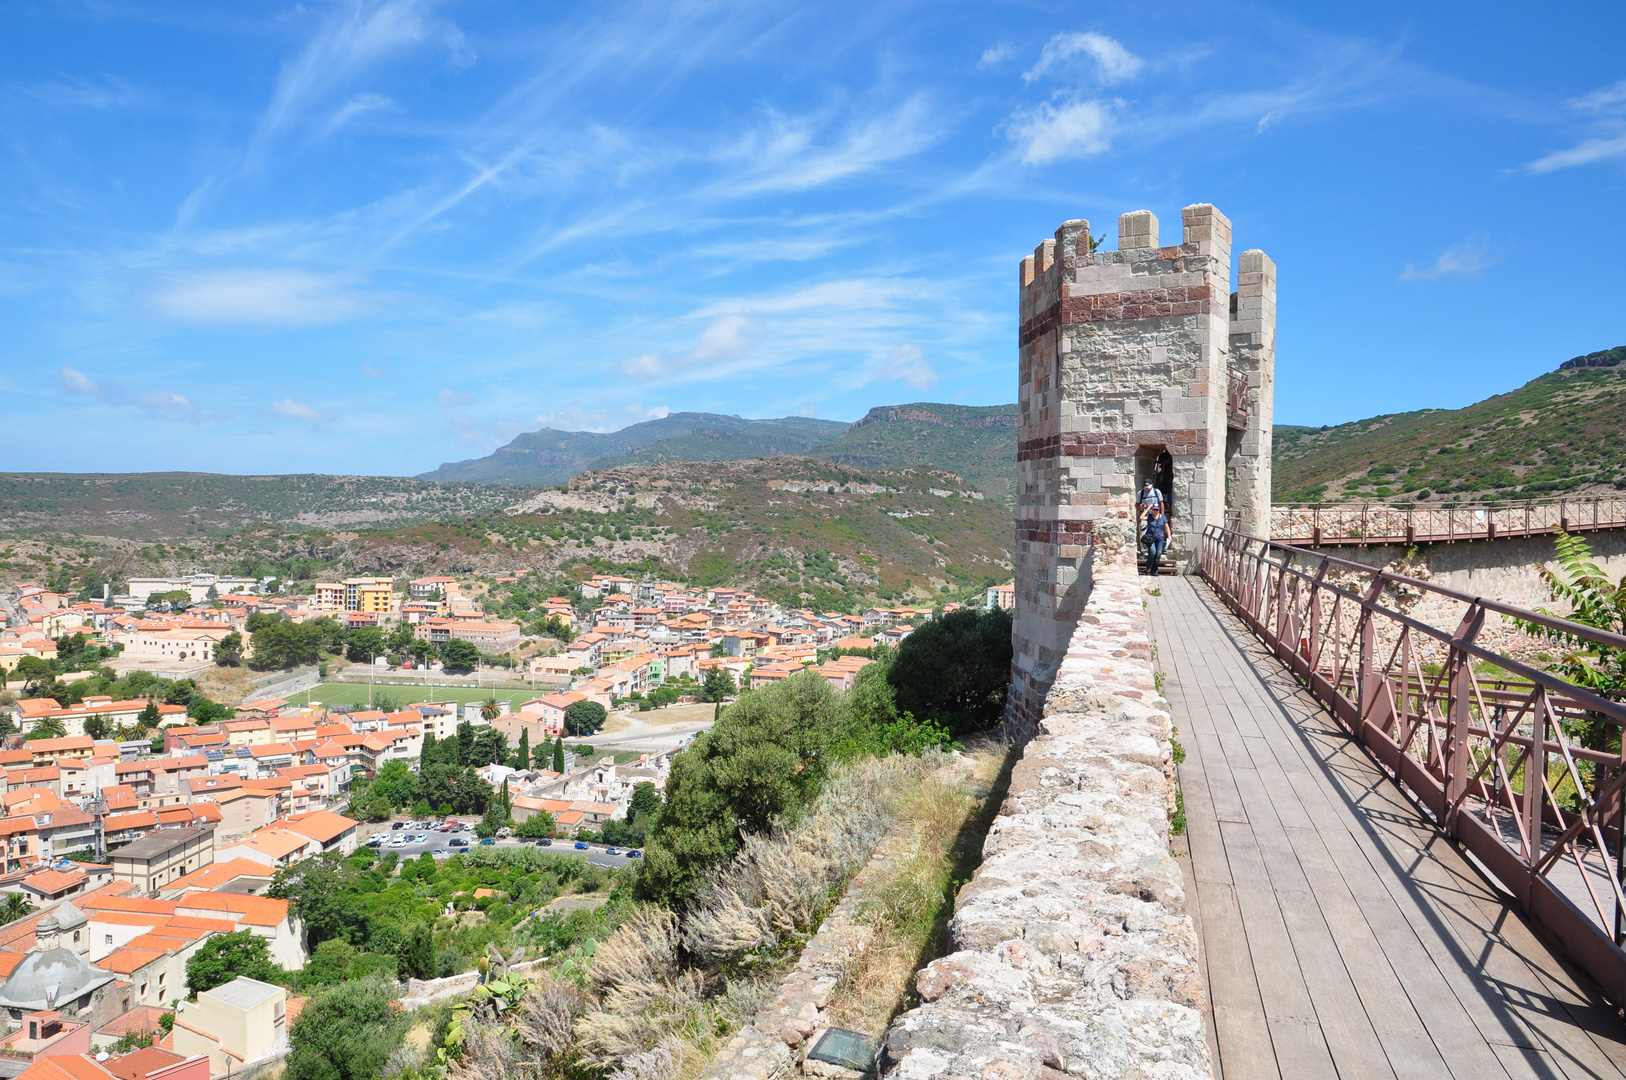
POLYGON ((1216 1075, 1626 1077, 1626 1023, 1208 586, 1146 582, 1216 1075))

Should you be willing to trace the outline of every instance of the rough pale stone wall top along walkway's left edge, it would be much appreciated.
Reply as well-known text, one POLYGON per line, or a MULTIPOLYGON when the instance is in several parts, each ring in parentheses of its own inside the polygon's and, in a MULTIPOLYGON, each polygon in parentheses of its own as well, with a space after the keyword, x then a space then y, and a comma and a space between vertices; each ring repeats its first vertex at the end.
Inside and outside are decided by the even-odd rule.
POLYGON ((917 976, 888 1080, 1211 1077, 1205 987, 1169 852, 1167 703, 1133 547, 1094 590, 959 891, 953 953, 917 976))

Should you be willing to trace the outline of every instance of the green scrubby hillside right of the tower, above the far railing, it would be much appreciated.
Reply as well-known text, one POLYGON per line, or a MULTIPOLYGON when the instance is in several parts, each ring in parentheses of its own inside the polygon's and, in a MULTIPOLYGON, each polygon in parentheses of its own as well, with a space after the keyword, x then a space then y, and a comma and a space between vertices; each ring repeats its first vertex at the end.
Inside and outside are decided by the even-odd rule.
POLYGON ((1467 408, 1281 425, 1276 503, 1538 499, 1626 488, 1626 346, 1467 408))

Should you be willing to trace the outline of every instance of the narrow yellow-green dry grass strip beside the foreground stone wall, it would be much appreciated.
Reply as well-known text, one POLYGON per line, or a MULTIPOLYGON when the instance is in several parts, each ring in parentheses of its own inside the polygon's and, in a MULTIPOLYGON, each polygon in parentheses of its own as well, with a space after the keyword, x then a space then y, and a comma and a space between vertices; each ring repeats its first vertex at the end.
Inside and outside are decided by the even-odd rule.
POLYGON ((860 917, 875 929, 863 963, 836 987, 831 1023, 883 1036, 914 1005, 914 974, 948 947, 954 893, 982 859, 982 839, 1010 779, 997 743, 966 753, 963 768, 924 777, 904 792, 886 841, 888 865, 863 883, 860 917))

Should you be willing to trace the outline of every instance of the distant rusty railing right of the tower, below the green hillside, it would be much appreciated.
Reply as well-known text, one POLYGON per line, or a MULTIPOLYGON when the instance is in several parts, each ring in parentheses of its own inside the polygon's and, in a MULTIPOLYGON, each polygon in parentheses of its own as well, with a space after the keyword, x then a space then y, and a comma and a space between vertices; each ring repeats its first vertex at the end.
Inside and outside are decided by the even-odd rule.
POLYGON ((1467 506, 1307 503, 1270 507, 1270 538, 1309 547, 1449 543, 1595 529, 1626 529, 1626 496, 1467 506))

